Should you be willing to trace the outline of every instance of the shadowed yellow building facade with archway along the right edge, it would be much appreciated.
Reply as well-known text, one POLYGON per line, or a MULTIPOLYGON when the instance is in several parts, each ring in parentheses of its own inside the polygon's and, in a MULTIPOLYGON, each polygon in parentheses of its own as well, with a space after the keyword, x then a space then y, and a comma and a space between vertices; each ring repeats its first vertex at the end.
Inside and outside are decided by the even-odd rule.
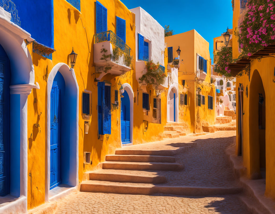
MULTIPOLYGON (((245 5, 235 1, 233 10, 232 38, 233 59, 241 54, 238 44, 238 31, 245 5)), ((274 162, 274 57, 265 56, 261 60, 251 57, 241 59, 246 68, 231 64, 229 69, 236 76, 237 137, 236 155, 242 156, 245 175, 249 179, 259 179, 265 185, 265 196, 275 199, 274 162), (240 72, 240 73, 239 73, 240 72)))

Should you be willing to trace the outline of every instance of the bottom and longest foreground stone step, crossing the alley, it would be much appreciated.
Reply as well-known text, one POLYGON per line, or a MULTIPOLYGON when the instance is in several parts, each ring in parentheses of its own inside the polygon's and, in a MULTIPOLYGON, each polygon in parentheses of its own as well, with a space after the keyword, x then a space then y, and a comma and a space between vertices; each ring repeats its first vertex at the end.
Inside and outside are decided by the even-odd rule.
POLYGON ((240 187, 198 187, 198 186, 168 186, 153 185, 147 183, 117 183, 107 181, 84 181, 80 186, 81 192, 92 193, 115 193, 115 194, 138 194, 152 195, 157 193, 175 194, 185 196, 207 196, 237 194, 242 191, 240 187))

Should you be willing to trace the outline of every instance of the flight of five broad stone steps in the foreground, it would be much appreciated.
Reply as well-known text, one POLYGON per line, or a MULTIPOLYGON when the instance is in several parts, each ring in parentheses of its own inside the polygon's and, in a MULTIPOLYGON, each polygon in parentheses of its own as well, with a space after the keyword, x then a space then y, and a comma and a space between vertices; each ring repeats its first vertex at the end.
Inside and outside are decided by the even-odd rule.
POLYGON ((173 150, 117 149, 115 155, 106 155, 102 169, 88 172, 89 180, 81 183, 80 191, 143 195, 161 192, 156 185, 166 183, 166 178, 155 171, 183 169, 174 155, 173 150))

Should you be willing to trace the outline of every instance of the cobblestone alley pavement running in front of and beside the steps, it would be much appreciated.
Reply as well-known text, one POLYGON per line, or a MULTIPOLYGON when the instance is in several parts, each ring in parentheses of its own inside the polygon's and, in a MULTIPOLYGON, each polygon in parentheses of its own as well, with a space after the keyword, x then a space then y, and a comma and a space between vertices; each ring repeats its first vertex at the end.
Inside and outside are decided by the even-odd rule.
MULTIPOLYGON (((188 188, 188 195, 113 194, 73 192, 57 201, 56 214, 61 213, 249 213, 241 199, 241 188, 234 179, 225 150, 235 144, 235 131, 218 131, 206 135, 187 135, 166 141, 128 147, 178 151, 176 163, 184 166, 180 171, 139 171, 166 177, 166 183, 155 186, 188 188), (183 149, 183 148, 187 149, 183 149), (196 195, 197 191, 211 189, 220 194, 196 195), (224 193, 223 193, 224 191, 224 193)), ((106 171, 102 169, 100 171, 106 171)), ((99 171, 99 172, 100 172, 99 171)), ((112 169, 107 169, 112 171, 112 169)), ((123 170, 123 173, 134 171, 123 170)), ((117 170, 119 172, 119 170, 117 170)), ((127 185, 127 183, 124 183, 127 185)), ((132 183, 146 186, 149 184, 132 183)))

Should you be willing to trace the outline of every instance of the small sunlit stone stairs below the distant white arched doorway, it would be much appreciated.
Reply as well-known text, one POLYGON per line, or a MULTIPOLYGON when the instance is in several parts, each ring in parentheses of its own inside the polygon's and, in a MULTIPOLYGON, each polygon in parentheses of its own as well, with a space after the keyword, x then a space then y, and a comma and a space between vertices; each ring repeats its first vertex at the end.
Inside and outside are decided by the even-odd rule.
POLYGON ((186 135, 187 125, 181 122, 167 122, 164 126, 163 138, 179 138, 186 135))

